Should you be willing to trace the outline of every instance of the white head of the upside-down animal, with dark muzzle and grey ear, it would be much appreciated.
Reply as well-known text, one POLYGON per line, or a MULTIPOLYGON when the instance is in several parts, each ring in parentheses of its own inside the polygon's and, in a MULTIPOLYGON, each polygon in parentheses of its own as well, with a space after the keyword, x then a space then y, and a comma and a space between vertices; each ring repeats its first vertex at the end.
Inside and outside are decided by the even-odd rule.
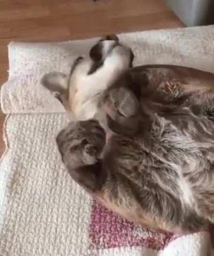
POLYGON ((132 66, 134 58, 132 50, 121 45, 116 35, 102 38, 89 55, 90 59, 77 58, 70 76, 50 72, 41 79, 41 84, 61 101, 71 120, 93 118, 102 92, 132 66))

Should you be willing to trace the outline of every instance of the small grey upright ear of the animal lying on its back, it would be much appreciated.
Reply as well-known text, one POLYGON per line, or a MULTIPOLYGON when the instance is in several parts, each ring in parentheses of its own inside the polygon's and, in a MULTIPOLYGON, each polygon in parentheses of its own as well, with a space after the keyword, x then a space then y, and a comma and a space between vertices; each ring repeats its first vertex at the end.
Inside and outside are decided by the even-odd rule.
POLYGON ((41 84, 49 91, 63 94, 68 89, 68 77, 61 72, 50 72, 42 77, 41 84))

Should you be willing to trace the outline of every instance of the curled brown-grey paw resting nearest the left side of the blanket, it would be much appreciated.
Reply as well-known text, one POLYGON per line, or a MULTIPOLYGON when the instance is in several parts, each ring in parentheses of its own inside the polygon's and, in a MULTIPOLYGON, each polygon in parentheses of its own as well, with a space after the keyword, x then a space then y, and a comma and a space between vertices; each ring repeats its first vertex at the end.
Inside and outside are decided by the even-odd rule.
POLYGON ((97 162, 105 145, 105 131, 97 120, 70 122, 57 138, 65 165, 76 168, 97 162))

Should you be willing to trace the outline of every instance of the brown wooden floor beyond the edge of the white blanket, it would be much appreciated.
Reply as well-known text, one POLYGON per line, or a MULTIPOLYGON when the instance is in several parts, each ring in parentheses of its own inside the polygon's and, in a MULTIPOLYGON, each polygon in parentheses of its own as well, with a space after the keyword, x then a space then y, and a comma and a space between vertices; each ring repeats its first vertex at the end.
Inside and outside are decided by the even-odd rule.
MULTIPOLYGON (((164 0, 0 0, 0 84, 10 41, 59 41, 181 27, 164 0)), ((0 155, 4 151, 0 113, 0 155)))

